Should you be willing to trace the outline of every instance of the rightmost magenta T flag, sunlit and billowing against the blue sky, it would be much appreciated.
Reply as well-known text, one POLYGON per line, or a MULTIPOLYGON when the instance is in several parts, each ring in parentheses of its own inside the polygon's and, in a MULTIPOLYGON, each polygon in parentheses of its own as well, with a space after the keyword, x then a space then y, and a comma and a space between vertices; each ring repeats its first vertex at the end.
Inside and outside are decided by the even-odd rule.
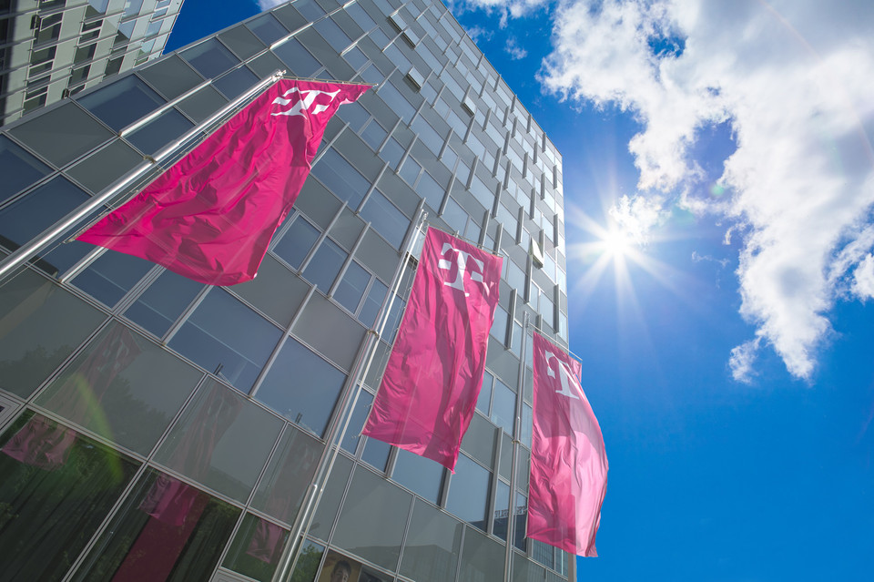
POLYGON ((580 386, 582 367, 534 333, 534 432, 528 537, 578 556, 597 556, 607 491, 601 427, 580 386))

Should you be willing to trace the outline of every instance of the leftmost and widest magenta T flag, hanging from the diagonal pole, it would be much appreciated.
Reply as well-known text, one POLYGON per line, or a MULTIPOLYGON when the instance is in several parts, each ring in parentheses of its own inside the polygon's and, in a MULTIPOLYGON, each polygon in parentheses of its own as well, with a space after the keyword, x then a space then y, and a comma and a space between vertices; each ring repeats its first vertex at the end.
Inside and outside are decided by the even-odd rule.
POLYGON ((250 281, 337 107, 369 86, 279 80, 77 240, 213 285, 250 281))

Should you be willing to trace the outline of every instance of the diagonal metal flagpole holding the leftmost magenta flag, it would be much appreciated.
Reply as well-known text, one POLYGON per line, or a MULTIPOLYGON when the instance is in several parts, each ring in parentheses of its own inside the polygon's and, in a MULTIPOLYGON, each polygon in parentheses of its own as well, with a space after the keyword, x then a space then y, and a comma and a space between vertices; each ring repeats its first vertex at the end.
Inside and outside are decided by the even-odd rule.
POLYGON ((97 194, 97 196, 89 199, 85 204, 67 214, 63 219, 58 220, 55 224, 53 224, 46 230, 43 230, 43 232, 41 232, 35 239, 30 240, 26 244, 19 247, 18 250, 15 250, 11 254, 9 254, 9 256, 6 257, 4 260, 0 260, 0 281, 5 279, 5 277, 11 272, 15 271, 15 269, 25 264, 25 262, 30 260, 31 257, 39 254, 43 250, 46 250, 46 248, 48 248, 50 245, 60 239, 67 230, 75 226, 80 220, 86 218, 95 210, 102 207, 110 199, 113 199, 113 197, 115 197, 118 192, 121 192, 122 190, 130 187, 134 182, 137 181, 137 179, 142 178, 148 170, 154 168, 158 163, 166 158, 169 158, 172 154, 176 153, 176 150, 182 144, 187 142, 189 139, 196 137, 198 133, 203 131, 204 128, 208 128, 220 118, 226 116, 229 112, 233 111, 236 107, 239 107, 239 105, 245 103, 251 97, 258 95, 266 87, 269 87, 273 83, 276 83, 283 75, 285 75, 284 70, 277 70, 269 77, 262 79, 261 81, 259 81, 259 83, 249 88, 249 90, 243 93, 241 96, 229 102, 228 105, 220 108, 219 111, 208 117, 208 119, 198 124, 194 128, 189 129, 181 138, 178 138, 167 147, 161 149, 149 161, 143 162, 142 164, 137 166, 137 168, 134 168, 133 171, 127 174, 127 177, 125 179, 118 182, 115 186, 106 189, 100 194, 97 194))

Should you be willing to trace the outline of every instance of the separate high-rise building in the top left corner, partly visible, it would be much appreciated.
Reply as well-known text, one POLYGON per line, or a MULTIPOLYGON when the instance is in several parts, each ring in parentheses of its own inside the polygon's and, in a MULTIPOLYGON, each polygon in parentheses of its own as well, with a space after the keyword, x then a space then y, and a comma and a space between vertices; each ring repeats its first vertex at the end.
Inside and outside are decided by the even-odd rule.
POLYGON ((183 0, 0 0, 0 126, 158 58, 183 0))

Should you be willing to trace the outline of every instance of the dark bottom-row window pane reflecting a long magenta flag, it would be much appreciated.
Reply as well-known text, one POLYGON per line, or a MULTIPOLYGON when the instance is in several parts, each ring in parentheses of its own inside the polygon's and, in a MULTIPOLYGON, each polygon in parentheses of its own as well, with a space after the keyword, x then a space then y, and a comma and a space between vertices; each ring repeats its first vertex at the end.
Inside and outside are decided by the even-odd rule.
POLYGON ((239 508, 149 470, 76 571, 76 580, 207 580, 239 508))

